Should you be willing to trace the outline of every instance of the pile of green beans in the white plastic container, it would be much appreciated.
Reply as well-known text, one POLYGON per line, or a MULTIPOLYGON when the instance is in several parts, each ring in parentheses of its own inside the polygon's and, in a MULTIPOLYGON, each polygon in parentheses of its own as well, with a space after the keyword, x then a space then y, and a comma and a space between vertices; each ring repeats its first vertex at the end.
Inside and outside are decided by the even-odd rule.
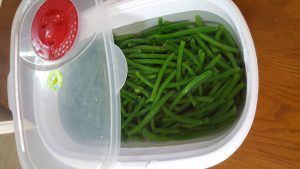
POLYGON ((121 90, 122 141, 174 141, 220 132, 238 117, 243 59, 223 25, 158 24, 114 35, 128 63, 121 90))

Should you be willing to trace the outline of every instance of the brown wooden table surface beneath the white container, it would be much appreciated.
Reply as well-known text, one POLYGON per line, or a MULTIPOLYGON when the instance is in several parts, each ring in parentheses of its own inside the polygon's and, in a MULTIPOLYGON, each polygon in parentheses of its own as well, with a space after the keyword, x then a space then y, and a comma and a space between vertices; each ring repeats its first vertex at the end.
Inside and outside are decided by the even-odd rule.
MULTIPOLYGON (((259 100, 246 140, 215 168, 300 168, 300 1, 234 1, 255 42, 259 100)), ((10 28, 19 2, 4 0, 0 8, 0 106, 5 108, 10 28)))

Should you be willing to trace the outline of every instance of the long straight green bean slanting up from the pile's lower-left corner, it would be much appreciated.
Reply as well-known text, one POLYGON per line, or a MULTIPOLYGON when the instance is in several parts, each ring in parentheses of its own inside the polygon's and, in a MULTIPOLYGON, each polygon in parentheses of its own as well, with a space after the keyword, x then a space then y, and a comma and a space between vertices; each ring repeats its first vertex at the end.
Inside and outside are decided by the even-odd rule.
POLYGON ((142 130, 142 128, 150 122, 150 120, 159 112, 161 106, 163 106, 172 97, 172 95, 174 95, 174 92, 169 92, 164 95, 157 103, 155 103, 152 110, 146 115, 142 122, 139 123, 135 128, 131 129, 128 132, 128 135, 133 135, 142 130))

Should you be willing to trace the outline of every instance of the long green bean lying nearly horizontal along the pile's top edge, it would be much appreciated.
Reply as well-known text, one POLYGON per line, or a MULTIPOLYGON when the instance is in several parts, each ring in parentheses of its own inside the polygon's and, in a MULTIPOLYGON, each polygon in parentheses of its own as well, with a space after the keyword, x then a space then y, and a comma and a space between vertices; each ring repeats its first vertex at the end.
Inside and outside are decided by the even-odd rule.
POLYGON ((148 37, 148 39, 171 39, 171 38, 176 38, 184 35, 191 35, 195 33, 210 33, 210 32, 215 32, 217 31, 216 27, 209 27, 209 26, 201 26, 197 28, 189 28, 186 30, 181 30, 177 31, 174 33, 169 33, 169 34, 153 34, 148 37))

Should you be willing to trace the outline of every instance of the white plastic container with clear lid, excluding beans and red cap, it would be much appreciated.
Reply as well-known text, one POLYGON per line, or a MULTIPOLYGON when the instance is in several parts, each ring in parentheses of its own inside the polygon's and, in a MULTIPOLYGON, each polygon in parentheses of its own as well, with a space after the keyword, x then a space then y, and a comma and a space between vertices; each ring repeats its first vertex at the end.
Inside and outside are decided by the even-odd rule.
POLYGON ((55 61, 42 59, 31 43, 33 18, 44 1, 22 1, 15 16, 8 93, 23 168, 198 169, 222 162, 241 145, 255 115, 258 69, 251 34, 232 1, 123 0, 105 8, 97 0, 72 2, 78 12, 77 37, 55 61), (195 14, 224 24, 242 49, 247 89, 239 120, 212 137, 121 145, 119 90, 127 65, 111 31, 138 32, 161 16, 177 21, 193 20, 195 14), (62 80, 58 90, 49 86, 53 74, 62 80))

